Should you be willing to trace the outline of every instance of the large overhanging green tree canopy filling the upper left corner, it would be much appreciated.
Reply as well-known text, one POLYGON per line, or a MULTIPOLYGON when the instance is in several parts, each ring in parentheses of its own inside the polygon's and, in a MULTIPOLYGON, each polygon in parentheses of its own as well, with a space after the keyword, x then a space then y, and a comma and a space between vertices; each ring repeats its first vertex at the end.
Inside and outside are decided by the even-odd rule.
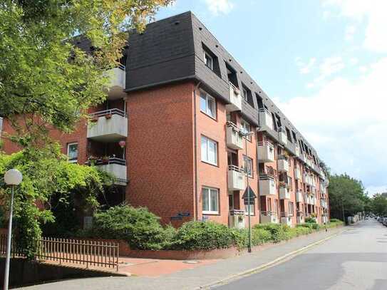
POLYGON ((127 31, 144 29, 171 2, 1 1, 0 116, 26 136, 19 143, 45 143, 51 128, 72 130, 105 99, 104 72, 123 56, 127 31), (88 39, 91 51, 78 48, 78 38, 88 39))

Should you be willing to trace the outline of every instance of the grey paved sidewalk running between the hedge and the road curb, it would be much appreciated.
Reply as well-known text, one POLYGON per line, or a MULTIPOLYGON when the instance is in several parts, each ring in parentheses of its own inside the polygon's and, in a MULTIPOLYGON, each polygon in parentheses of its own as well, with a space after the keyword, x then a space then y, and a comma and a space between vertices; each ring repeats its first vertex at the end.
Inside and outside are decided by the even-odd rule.
MULTIPOLYGON (((232 279, 235 275, 243 274, 252 269, 256 269, 259 266, 272 263, 285 255, 289 256, 289 253, 291 254, 294 251, 319 242, 334 234, 338 234, 343 230, 343 227, 339 227, 330 229, 328 232, 321 231, 309 234, 289 242, 284 242, 275 247, 270 247, 263 251, 219 260, 214 263, 196 266, 192 269, 185 269, 157 277, 150 274, 149 276, 75 279, 25 287, 24 289, 201 289, 203 286, 209 286, 220 281, 232 279)), ((289 259, 289 257, 287 258, 289 259)))

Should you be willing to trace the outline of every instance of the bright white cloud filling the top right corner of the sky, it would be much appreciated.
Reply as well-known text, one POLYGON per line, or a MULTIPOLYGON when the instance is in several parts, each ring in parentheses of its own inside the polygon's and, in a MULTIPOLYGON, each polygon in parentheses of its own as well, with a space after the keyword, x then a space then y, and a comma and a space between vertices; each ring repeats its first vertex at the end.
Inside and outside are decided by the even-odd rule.
POLYGON ((339 9, 341 16, 366 21, 363 46, 370 51, 387 52, 386 0, 322 0, 326 9, 339 9))

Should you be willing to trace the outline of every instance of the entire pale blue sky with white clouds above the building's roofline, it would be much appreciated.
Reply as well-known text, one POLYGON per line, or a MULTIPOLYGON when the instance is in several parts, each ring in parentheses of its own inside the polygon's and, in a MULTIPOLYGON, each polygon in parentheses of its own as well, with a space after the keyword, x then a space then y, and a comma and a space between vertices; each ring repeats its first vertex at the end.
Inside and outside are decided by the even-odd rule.
POLYGON ((387 192, 386 0, 177 0, 279 106, 333 173, 387 192))

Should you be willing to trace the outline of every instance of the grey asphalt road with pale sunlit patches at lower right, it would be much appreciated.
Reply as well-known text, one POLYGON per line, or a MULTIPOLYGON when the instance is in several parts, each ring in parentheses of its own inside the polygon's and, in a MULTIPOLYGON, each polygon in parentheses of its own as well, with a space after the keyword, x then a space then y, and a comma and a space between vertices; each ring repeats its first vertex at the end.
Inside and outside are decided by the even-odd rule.
POLYGON ((214 289, 386 290, 387 227, 368 219, 293 259, 214 289))

